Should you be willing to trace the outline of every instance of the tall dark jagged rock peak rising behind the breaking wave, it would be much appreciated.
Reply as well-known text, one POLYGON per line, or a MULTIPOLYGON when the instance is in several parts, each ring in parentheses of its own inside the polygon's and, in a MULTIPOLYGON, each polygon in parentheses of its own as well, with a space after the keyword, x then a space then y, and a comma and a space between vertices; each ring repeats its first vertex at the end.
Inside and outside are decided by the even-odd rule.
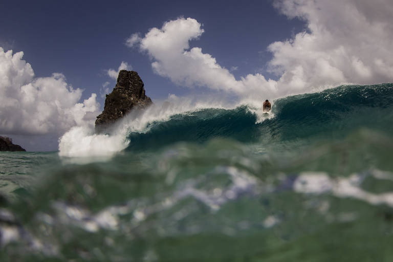
POLYGON ((112 93, 106 95, 104 111, 96 119, 99 133, 134 109, 145 108, 151 99, 145 95, 142 79, 135 71, 120 70, 112 93))

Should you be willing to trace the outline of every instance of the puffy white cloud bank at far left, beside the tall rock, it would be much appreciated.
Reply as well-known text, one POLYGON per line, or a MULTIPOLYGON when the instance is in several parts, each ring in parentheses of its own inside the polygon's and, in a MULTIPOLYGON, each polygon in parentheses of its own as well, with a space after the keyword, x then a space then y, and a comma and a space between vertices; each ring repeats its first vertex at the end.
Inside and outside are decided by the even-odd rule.
POLYGON ((0 47, 0 133, 62 134, 94 120, 96 94, 79 103, 82 90, 59 73, 35 78, 23 55, 0 47))

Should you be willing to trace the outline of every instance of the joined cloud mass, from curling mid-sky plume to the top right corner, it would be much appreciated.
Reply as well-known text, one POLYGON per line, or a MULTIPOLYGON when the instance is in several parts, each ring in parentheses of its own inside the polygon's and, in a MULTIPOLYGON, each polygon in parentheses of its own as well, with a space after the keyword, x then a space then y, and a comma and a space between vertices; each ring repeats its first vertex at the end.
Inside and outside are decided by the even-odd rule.
POLYGON ((392 5, 389 0, 279 0, 275 7, 289 18, 303 19, 308 30, 292 39, 269 45, 273 58, 269 71, 277 80, 262 74, 236 79, 199 47, 189 42, 203 34, 193 18, 167 21, 143 37, 129 42, 139 45, 152 59, 155 73, 183 86, 207 86, 241 97, 275 98, 329 88, 341 83, 370 84, 393 80, 392 5))

